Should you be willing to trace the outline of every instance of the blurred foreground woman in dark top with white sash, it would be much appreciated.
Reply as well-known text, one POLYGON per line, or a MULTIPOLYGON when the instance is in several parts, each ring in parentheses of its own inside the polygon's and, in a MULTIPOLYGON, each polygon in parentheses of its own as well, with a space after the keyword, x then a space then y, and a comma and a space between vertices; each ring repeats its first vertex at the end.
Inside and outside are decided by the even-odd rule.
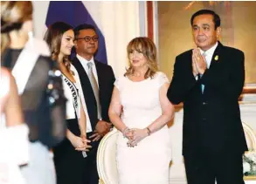
POLYGON ((21 167, 22 174, 27 184, 54 184, 49 149, 65 137, 66 99, 60 72, 49 57, 47 44, 32 38, 31 31, 31 2, 1 2, 3 66, 16 79, 24 122, 30 131, 30 160, 21 167))

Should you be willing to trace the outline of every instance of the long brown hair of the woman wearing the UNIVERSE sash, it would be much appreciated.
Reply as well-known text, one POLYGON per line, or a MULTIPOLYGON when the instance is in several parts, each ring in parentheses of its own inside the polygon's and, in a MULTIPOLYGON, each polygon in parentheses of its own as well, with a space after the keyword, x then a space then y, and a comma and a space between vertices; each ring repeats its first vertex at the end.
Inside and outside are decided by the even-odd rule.
MULTIPOLYGON (((66 31, 70 31, 70 30, 73 30, 73 27, 71 25, 66 24, 64 22, 56 22, 50 25, 48 30, 45 32, 44 40, 50 47, 52 60, 58 61, 63 34, 66 31)), ((71 72, 70 61, 68 59, 68 56, 65 56, 63 58, 63 63, 64 65, 66 65, 68 72, 71 72)))

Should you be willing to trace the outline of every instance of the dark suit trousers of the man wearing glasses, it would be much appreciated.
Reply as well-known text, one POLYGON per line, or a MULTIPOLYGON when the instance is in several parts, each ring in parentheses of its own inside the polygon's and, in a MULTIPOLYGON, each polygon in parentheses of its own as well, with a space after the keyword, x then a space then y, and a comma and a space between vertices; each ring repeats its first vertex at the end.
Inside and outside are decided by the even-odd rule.
MULTIPOLYGON (((93 140, 89 139, 89 137, 93 133, 86 133, 87 139, 88 140, 93 140)), ((100 139, 101 140, 101 139, 100 139)), ((85 159, 85 173, 84 173, 84 183, 83 184, 99 184, 99 174, 97 171, 97 151, 98 147, 100 144, 100 140, 98 141, 92 141, 90 145, 92 148, 90 149, 89 152, 87 153, 87 157, 85 159)))

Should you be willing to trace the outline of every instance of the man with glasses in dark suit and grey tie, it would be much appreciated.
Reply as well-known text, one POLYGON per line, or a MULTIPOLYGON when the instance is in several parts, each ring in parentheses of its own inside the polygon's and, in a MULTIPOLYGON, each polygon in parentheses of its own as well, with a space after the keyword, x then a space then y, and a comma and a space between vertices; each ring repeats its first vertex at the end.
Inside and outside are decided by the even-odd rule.
POLYGON ((76 58, 73 65, 79 73, 82 93, 86 102, 86 137, 92 140, 92 149, 85 159, 85 184, 98 184, 96 154, 101 138, 109 132, 111 123, 108 107, 114 88, 114 72, 109 65, 93 58, 98 49, 98 35, 90 24, 74 29, 76 58))

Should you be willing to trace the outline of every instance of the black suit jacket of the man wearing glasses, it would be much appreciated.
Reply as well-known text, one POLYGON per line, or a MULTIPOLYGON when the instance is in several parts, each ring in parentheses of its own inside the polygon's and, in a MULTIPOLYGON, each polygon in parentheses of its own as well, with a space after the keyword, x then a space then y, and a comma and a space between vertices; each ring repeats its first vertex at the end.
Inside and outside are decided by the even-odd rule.
MULTIPOLYGON (((96 60, 94 60, 94 62, 99 81, 101 117, 102 120, 110 122, 108 117, 108 107, 110 105, 111 96, 114 88, 114 72, 111 66, 102 64, 96 60)), ((80 60, 78 58, 73 58, 73 66, 79 73, 80 83, 85 97, 89 119, 94 130, 99 119, 97 117, 97 103, 93 94, 93 88, 86 74, 86 71, 80 64, 80 60)))

